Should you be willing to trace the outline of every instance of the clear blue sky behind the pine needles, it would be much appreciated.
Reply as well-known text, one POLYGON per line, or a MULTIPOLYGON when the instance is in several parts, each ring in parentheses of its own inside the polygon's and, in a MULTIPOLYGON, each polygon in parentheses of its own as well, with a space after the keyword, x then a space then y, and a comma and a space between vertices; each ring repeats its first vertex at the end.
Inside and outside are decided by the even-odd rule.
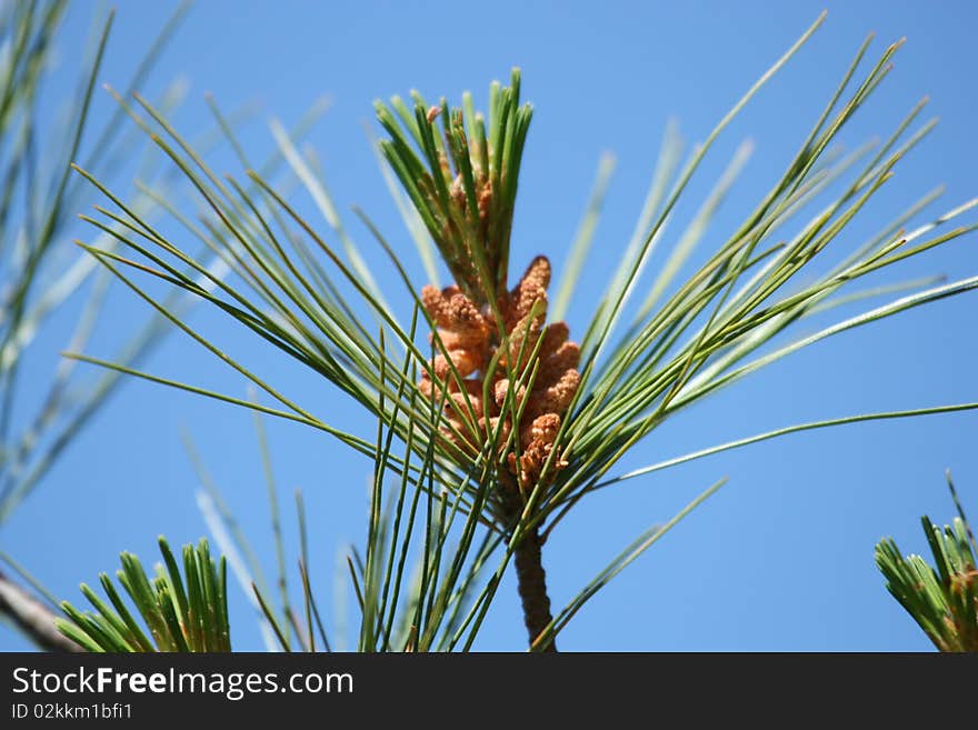
MULTIPOLYGON (((511 66, 519 66, 536 113, 513 259, 527 261, 543 252, 559 266, 598 156, 612 150, 618 168, 585 274, 586 284, 597 288, 631 232, 667 119, 679 119, 688 142, 701 140, 822 7, 829 8, 827 23, 728 130, 690 190, 688 210, 701 200, 737 143, 754 139, 755 156, 705 249, 722 240, 780 173, 870 31, 877 33, 871 54, 904 36, 908 42, 895 72, 847 131, 849 147, 888 133, 924 94, 930 96, 930 112, 941 123, 901 163, 852 237, 876 231, 937 183, 947 184, 947 194, 936 211, 978 194, 978 17, 969 2, 211 0, 193 9, 148 91, 158 91, 166 79, 186 77, 191 92, 176 119, 191 131, 207 123, 204 92, 213 92, 226 108, 260 101, 261 118, 242 132, 257 158, 272 149, 267 118, 295 121, 313 100, 329 94, 333 106, 310 142, 321 154, 333 193, 347 209, 365 207, 397 244, 409 247, 362 131, 363 122, 372 120, 372 101, 411 88, 429 98, 455 99, 471 89, 481 99, 492 79, 505 79, 511 66)), ((98 8, 72 3, 69 29, 83 36, 98 8)), ((120 4, 106 80, 124 84, 171 8, 170 2, 120 4)), ((77 51, 70 34, 62 33, 66 63, 77 51)), ((73 82, 66 69, 56 78, 73 82)), ((104 94, 98 104, 97 114, 111 109, 104 94)), ((229 158, 217 159, 234 169, 229 158)), ((352 233, 367 246, 366 231, 349 218, 352 233)), ((894 276, 944 273, 956 279, 978 273, 976 246, 972 234, 894 276)), ((381 283, 396 286, 382 258, 371 260, 381 283)), ((573 302, 568 318, 578 331, 591 309, 586 299, 573 302)), ((112 333, 144 314, 126 292, 110 301, 103 328, 89 348, 97 356, 111 354, 112 333)), ((818 344, 697 406, 637 447, 626 466, 800 421, 976 401, 976 316, 978 298, 964 296, 818 344)), ((200 311, 194 321, 330 422, 371 433, 371 424, 328 384, 282 362, 213 312, 200 311)), ((47 341, 51 351, 61 343, 56 337, 47 341)), ((146 369, 232 394, 244 392, 240 378, 180 334, 146 369)), ((39 388, 47 372, 38 368, 28 374, 28 388, 39 388)), ((178 436, 181 426, 192 432, 271 571, 251 417, 143 382, 127 383, 99 414, 0 530, 0 548, 26 562, 59 596, 80 599, 77 584, 113 570, 119 551, 154 560, 157 534, 173 543, 204 534, 194 476, 178 436)), ((288 532, 295 533, 289 494, 301 487, 313 533, 313 579, 332 614, 329 593, 337 551, 350 540, 360 541, 365 529, 368 463, 300 426, 269 422, 268 428, 287 498, 288 532)), ((719 477, 730 478, 719 494, 575 619, 562 648, 927 650, 929 642, 886 592, 872 547, 892 534, 905 551, 926 549, 920 514, 944 522, 952 513, 945 468, 954 470, 966 506, 978 514, 976 429, 978 414, 965 413, 794 436, 636 480, 583 502, 546 548, 558 607, 633 534, 670 518, 719 477)), ((250 609, 237 590, 231 610, 237 647, 259 649, 250 609)), ((0 628, 0 649, 23 647, 19 637, 0 628)), ((522 647, 510 582, 478 648, 522 647)))

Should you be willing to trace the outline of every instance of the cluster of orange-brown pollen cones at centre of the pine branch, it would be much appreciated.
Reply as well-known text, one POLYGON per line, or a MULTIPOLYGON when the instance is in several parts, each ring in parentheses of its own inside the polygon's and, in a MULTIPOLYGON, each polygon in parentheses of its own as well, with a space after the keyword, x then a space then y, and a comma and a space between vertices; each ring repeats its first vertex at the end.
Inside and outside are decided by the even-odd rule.
MULTIPOLYGON (((580 347, 568 340, 567 324, 552 322, 545 327, 549 283, 550 262, 542 256, 537 257, 519 283, 498 303, 502 328, 508 336, 506 346, 489 308, 479 308, 458 287, 439 290, 427 286, 421 290, 421 302, 437 327, 448 357, 435 357, 431 362, 433 380, 426 373, 419 389, 427 398, 435 399, 447 392, 447 424, 442 433, 472 456, 482 450, 490 439, 489 433, 495 434, 500 422, 502 430, 496 443, 500 452, 506 448, 510 442, 516 409, 519 413, 519 456, 510 443, 506 467, 518 476, 523 489, 532 488, 539 481, 543 464, 555 448, 561 419, 580 383, 577 370, 580 347), (505 351, 500 352, 503 347, 505 351), (539 367, 527 392, 535 350, 539 367), (490 363, 493 363, 491 368, 490 363), (458 371, 461 386, 451 366, 458 371), (513 382, 519 384, 519 391, 512 396, 509 396, 515 387, 508 377, 510 372, 515 374, 513 382), (488 393, 488 399, 483 393, 488 393)), ((566 463, 560 453, 555 454, 549 473, 566 463)))

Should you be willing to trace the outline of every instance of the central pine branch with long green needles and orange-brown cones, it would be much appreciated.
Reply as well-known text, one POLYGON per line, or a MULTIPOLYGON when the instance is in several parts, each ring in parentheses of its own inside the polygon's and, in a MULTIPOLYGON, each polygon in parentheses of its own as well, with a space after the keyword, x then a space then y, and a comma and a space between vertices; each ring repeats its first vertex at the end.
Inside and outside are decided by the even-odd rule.
MULTIPOLYGON (((821 21, 822 17, 747 90, 686 164, 678 166, 678 142, 673 133, 667 134, 636 233, 601 299, 592 302, 590 319, 575 324, 576 341, 569 339, 570 324, 548 322, 546 256, 536 257, 517 287, 509 289, 512 212, 531 118, 531 107, 519 101, 518 73, 510 88, 492 87, 486 116, 473 111, 468 96, 458 108, 445 100, 430 106, 417 93, 411 94, 412 108, 397 97, 377 106, 389 137, 378 142, 378 149, 390 168, 388 177, 403 188, 398 193, 403 199, 398 200, 409 211, 412 237, 422 240, 418 248, 426 271, 433 269, 433 247, 453 279, 445 289, 433 286, 435 277, 423 288, 412 282, 402 252, 358 211, 413 301, 410 327, 399 322, 373 277, 363 274, 363 257, 339 220, 315 160, 300 153, 285 130, 273 129, 279 147, 332 233, 305 220, 289 196, 263 172, 250 170, 247 160, 240 183, 221 177, 162 111, 139 97, 138 108, 119 98, 199 192, 198 202, 207 211, 203 227, 182 227, 220 258, 229 276, 212 276, 181 243, 182 233, 146 221, 98 176, 79 169, 114 207, 99 208, 101 219, 84 218, 100 237, 110 236, 112 246, 97 242, 83 248, 162 317, 271 397, 273 408, 101 359, 74 357, 303 422, 373 458, 366 560, 357 554, 347 563, 362 613, 360 650, 470 649, 510 559, 520 582, 531 649, 552 647, 557 633, 598 590, 722 481, 630 543, 553 618, 541 544, 585 497, 623 479, 798 431, 978 408, 971 402, 890 409, 788 426, 623 476, 612 473, 670 416, 744 377, 837 333, 978 289, 978 277, 940 286, 926 279, 910 291, 905 283, 867 289, 862 282, 978 230, 978 223, 958 222, 978 207, 978 199, 911 222, 936 200, 935 193, 928 193, 855 250, 841 240, 851 234, 850 222, 870 210, 870 201, 901 159, 934 128, 931 121, 911 129, 921 102, 884 143, 849 156, 832 153, 840 131, 889 73, 900 43, 887 47, 865 72, 860 69, 869 41, 858 49, 809 136, 740 226, 710 228, 719 228, 716 211, 732 189, 749 146, 735 154, 671 251, 661 250, 668 244, 667 223, 685 216, 680 198, 691 194, 691 180, 715 141, 821 21), (812 211, 814 206, 818 209, 812 211), (799 221, 800 216, 807 220, 799 221), (710 237, 705 236, 708 229, 710 237), (696 247, 707 240, 716 240, 717 246, 701 257, 696 247), (838 258, 831 259, 837 251, 838 258), (220 310, 351 398, 377 419, 376 444, 328 424, 233 359, 183 312, 162 301, 157 284, 220 310), (648 293, 642 301, 631 301, 643 291, 648 293), (815 334, 799 332, 799 323, 819 312, 894 291, 907 294, 815 334), (379 332, 368 329, 368 318, 377 321, 379 332), (419 342, 429 333, 430 347, 419 342), (393 449, 395 442, 403 444, 402 453, 393 449), (456 538, 458 547, 452 551, 447 546, 456 538), (413 579, 405 570, 409 554, 419 556, 413 579), (498 567, 481 582, 480 570, 496 557, 498 567)), ((566 267, 566 283, 557 288, 556 307, 549 311, 551 320, 572 299, 573 282, 586 266, 603 186, 599 176, 566 267)), ((170 212, 183 223, 186 216, 170 212)), ((308 629, 316 611, 310 598, 307 594, 305 632, 311 634, 308 629)), ((288 611, 283 613, 291 626, 279 626, 270 599, 267 591, 256 592, 256 601, 287 648, 289 630, 299 636, 303 631, 288 611)))

